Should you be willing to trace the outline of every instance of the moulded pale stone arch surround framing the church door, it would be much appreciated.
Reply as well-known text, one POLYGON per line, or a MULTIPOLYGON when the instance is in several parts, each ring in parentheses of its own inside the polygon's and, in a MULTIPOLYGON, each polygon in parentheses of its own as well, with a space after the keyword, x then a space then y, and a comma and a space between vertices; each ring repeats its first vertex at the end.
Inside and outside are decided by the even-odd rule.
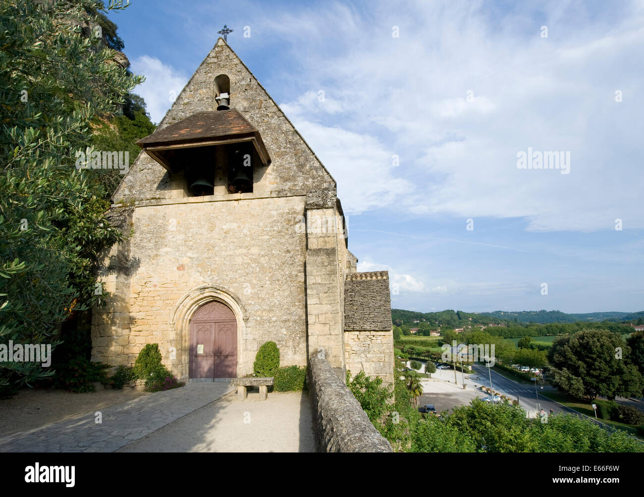
POLYGON ((171 344, 176 348, 175 367, 178 375, 184 381, 189 378, 191 320, 202 305, 213 301, 224 303, 234 314, 237 325, 237 372, 243 369, 245 364, 246 357, 242 347, 242 339, 245 336, 246 321, 249 318, 246 310, 232 292, 211 285, 202 285, 185 293, 178 300, 169 316, 169 324, 175 336, 175 342, 171 344))

